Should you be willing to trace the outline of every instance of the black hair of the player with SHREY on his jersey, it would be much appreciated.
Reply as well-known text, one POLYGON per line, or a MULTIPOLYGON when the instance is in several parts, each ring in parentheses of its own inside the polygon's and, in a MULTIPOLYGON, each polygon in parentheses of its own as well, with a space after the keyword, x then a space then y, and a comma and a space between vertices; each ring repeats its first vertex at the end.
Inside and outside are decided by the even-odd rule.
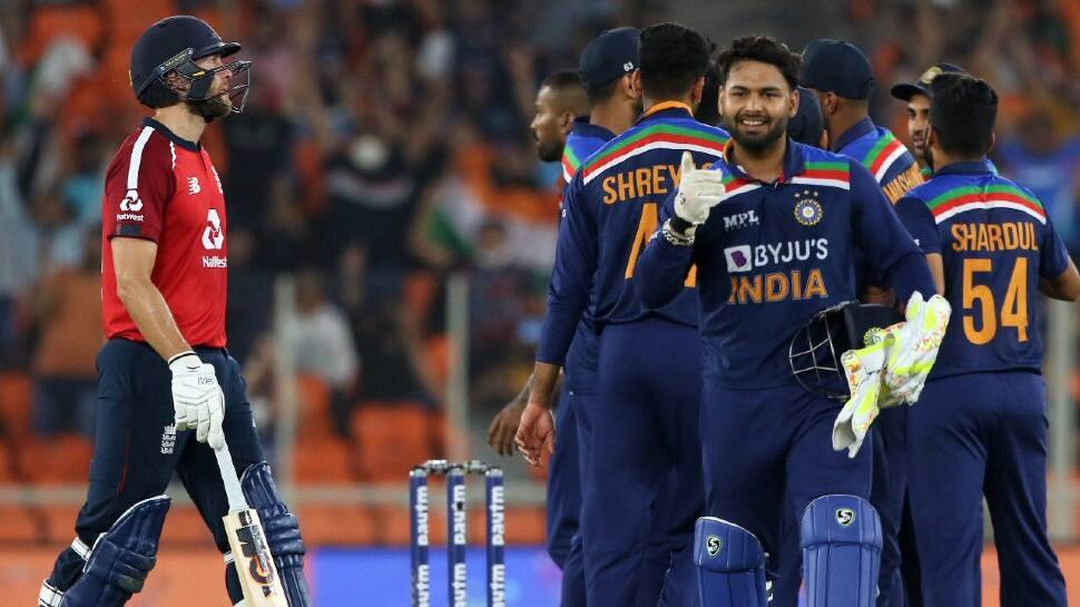
POLYGON ((678 23, 657 23, 641 30, 638 61, 641 88, 651 99, 685 97, 709 67, 705 37, 678 23))

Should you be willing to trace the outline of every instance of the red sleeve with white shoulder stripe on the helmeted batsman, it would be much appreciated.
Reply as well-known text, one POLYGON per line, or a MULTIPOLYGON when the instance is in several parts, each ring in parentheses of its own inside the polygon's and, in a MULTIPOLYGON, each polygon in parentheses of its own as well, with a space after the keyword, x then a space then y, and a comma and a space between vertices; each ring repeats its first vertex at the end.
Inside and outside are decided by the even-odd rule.
POLYGON ((105 178, 105 235, 157 242, 161 237, 165 205, 173 196, 173 179, 168 144, 140 136, 131 147, 120 148, 105 178))

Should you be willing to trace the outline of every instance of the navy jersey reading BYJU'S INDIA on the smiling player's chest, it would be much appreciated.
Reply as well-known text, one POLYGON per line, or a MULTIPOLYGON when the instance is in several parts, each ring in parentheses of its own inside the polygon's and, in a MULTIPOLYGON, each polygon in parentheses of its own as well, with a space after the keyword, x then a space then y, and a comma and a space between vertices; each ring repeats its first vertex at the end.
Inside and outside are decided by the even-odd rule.
MULTIPOLYGON (((645 303, 660 305, 697 265, 705 379, 714 385, 796 383, 791 340, 817 312, 855 300, 856 249, 903 301, 915 290, 934 292, 925 258, 857 161, 788 139, 776 183, 753 179, 726 159, 713 169, 724 174, 726 194, 694 245, 658 235, 637 275, 645 303)), ((675 197, 665 204, 674 213, 675 197)))

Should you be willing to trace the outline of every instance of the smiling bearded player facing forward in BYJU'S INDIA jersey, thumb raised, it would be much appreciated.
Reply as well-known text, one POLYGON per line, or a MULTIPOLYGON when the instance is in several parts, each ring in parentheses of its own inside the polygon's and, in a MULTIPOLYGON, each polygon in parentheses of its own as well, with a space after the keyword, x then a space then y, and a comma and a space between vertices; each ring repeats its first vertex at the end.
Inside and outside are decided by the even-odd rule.
POLYGON ((785 137, 798 57, 772 38, 745 37, 718 63, 732 143, 713 169, 684 168, 635 274, 642 301, 657 307, 697 271, 709 515, 694 547, 701 601, 765 607, 766 554, 775 568, 787 495, 801 517, 807 605, 870 607, 881 550, 866 501, 871 450, 832 450, 840 407, 796 383, 788 346, 817 312, 855 298, 856 251, 902 301, 933 293, 933 278, 860 163, 785 137))

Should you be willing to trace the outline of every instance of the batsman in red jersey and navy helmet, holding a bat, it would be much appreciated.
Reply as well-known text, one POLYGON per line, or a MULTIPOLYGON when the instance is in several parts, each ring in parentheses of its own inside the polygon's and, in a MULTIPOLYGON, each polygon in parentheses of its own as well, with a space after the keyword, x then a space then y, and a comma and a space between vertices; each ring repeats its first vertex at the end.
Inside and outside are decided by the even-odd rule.
POLYGON ((247 79, 236 79, 251 63, 223 61, 239 48, 194 17, 170 17, 150 26, 131 51, 135 96, 155 115, 124 141, 106 175, 108 342, 97 358, 90 482, 76 538, 42 584, 40 607, 119 607, 143 589, 174 472, 225 557, 229 600, 242 603, 222 523, 228 500, 212 450, 225 439, 289 607, 312 604, 296 517, 277 493, 239 366, 225 351, 225 196, 199 138, 208 123, 244 107, 247 79))

